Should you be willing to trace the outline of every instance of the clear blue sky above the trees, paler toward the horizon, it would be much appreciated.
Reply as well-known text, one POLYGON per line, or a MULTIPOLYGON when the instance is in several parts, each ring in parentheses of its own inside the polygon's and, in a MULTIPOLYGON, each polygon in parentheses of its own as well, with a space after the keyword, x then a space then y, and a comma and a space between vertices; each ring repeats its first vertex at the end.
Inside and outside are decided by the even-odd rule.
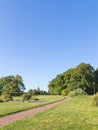
POLYGON ((81 62, 98 67, 98 0, 0 0, 0 77, 47 90, 81 62))

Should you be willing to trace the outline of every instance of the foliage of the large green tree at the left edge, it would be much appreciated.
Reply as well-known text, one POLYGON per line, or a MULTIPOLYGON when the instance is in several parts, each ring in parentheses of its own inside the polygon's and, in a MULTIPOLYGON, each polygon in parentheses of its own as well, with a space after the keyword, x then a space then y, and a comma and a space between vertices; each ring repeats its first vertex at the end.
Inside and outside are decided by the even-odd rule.
POLYGON ((16 76, 6 76, 0 78, 0 91, 13 93, 21 92, 25 90, 22 77, 20 75, 16 76))

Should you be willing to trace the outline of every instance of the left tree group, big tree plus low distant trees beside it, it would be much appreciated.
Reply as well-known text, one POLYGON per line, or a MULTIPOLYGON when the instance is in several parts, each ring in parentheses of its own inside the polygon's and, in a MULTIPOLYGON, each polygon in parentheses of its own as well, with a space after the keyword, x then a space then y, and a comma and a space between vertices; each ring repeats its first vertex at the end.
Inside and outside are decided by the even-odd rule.
POLYGON ((12 96, 20 96, 24 93, 29 93, 31 95, 47 95, 46 91, 37 89, 29 89, 28 92, 24 92, 26 90, 25 85, 23 83, 23 79, 20 75, 10 75, 0 78, 0 95, 2 93, 8 93, 12 96))

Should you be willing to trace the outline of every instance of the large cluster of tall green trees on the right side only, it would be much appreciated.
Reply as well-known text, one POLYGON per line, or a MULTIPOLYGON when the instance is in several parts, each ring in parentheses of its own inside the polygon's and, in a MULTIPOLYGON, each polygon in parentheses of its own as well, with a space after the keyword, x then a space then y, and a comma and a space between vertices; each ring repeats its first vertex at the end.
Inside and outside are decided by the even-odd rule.
POLYGON ((66 93, 81 88, 87 94, 94 94, 98 91, 98 68, 81 63, 74 68, 69 68, 62 74, 57 75, 48 84, 50 94, 66 93))

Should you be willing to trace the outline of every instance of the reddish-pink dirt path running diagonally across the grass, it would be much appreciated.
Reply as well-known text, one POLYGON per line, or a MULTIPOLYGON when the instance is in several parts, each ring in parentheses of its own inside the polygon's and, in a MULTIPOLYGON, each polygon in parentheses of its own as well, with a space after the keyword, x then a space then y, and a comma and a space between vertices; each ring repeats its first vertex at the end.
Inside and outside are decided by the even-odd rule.
POLYGON ((9 123, 15 122, 15 121, 20 120, 22 118, 25 118, 27 116, 31 116, 31 115, 36 114, 38 112, 41 112, 41 111, 44 111, 46 109, 52 108, 54 106, 57 106, 59 104, 62 104, 64 102, 66 102, 68 100, 70 100, 70 99, 67 98, 67 99, 52 103, 52 104, 48 104, 48 105, 41 106, 41 107, 38 107, 38 108, 33 108, 31 110, 26 110, 26 111, 23 111, 23 112, 11 114, 9 116, 1 117, 0 118, 0 126, 7 125, 9 123))

